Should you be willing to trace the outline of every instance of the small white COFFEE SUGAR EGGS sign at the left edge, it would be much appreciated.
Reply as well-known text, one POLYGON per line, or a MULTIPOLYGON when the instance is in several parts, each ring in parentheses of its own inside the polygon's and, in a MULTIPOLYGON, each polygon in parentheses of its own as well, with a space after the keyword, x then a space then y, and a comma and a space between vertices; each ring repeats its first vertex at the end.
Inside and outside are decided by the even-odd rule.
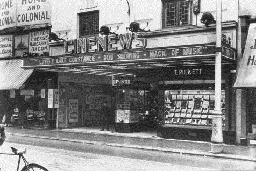
MULTIPOLYGON (((1 16, 1 11, 0 11, 1 16)), ((0 58, 10 57, 12 55, 12 35, 0 36, 0 58)))

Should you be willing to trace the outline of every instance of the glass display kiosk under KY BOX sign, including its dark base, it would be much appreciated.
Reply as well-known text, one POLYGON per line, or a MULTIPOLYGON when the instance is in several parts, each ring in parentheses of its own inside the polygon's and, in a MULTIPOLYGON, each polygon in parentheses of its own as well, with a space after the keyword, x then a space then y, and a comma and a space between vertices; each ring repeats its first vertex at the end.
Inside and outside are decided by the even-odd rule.
POLYGON ((116 91, 116 132, 151 130, 158 124, 157 91, 130 87, 116 91))

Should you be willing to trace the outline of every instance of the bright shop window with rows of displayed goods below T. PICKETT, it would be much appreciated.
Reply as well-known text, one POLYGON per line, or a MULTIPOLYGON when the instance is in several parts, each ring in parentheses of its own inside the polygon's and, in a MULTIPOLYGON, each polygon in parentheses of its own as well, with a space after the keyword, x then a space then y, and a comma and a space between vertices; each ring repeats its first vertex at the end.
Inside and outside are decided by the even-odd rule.
MULTIPOLYGON (((212 126, 214 90, 165 91, 165 125, 212 126)), ((225 126, 225 91, 221 94, 223 126, 225 126)))

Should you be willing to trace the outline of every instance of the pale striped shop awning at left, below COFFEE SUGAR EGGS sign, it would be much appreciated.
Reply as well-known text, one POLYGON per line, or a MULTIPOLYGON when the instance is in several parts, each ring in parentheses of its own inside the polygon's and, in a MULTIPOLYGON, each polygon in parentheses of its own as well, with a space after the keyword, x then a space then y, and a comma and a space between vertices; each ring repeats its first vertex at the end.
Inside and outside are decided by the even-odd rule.
POLYGON ((22 60, 0 60, 0 90, 19 89, 33 70, 21 68, 22 60))

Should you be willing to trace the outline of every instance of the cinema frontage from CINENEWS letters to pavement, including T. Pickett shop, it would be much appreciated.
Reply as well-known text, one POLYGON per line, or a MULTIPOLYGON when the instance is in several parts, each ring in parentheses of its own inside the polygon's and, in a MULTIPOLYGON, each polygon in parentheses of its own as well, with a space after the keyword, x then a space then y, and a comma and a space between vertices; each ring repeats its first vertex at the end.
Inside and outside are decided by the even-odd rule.
MULTIPOLYGON (((222 28, 223 133, 225 143, 234 143, 236 23, 222 28)), ((59 108, 50 110, 58 127, 99 125, 107 99, 116 132, 157 128, 163 138, 210 141, 215 26, 99 35, 50 47, 49 57, 24 59, 23 68, 56 73, 51 88, 59 90, 59 108)))

